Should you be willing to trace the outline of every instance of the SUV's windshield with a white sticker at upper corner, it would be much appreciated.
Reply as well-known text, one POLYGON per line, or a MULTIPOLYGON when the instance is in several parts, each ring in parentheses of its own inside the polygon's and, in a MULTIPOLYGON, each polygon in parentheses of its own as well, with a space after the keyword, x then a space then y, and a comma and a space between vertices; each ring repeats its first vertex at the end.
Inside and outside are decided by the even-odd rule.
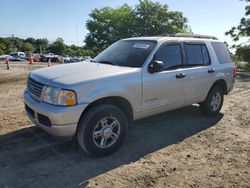
POLYGON ((96 56, 94 61, 124 67, 142 67, 155 45, 156 41, 152 40, 118 41, 96 56))

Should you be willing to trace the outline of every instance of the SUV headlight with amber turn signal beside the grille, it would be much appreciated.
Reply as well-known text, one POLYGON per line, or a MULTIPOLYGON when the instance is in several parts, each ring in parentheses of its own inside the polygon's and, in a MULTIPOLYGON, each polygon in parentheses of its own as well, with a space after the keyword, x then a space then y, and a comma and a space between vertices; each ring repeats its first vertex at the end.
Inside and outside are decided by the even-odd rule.
POLYGON ((76 104, 74 91, 46 86, 43 90, 42 101, 61 106, 72 106, 76 104))

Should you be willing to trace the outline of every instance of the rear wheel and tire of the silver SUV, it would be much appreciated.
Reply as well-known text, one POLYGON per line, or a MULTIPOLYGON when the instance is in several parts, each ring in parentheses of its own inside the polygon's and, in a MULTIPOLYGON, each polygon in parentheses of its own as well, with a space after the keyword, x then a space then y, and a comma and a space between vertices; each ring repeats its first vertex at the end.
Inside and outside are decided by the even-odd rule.
POLYGON ((200 104, 200 110, 205 116, 216 116, 219 114, 224 101, 223 90, 219 86, 210 89, 207 98, 200 104))

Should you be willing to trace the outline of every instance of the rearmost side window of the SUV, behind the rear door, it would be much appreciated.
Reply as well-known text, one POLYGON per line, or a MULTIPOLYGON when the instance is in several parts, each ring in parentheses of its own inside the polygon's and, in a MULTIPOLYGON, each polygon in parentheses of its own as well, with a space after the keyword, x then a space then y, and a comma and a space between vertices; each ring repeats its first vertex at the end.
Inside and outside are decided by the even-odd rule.
POLYGON ((227 46, 222 42, 212 42, 212 47, 215 54, 221 64, 232 63, 229 50, 227 46))

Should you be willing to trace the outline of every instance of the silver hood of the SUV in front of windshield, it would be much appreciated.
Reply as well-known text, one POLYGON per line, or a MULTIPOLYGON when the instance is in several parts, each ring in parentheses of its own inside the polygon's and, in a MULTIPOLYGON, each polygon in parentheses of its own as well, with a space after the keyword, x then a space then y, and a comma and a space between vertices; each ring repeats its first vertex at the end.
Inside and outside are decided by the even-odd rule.
POLYGON ((138 69, 139 68, 80 62, 41 68, 32 71, 30 76, 48 85, 50 82, 71 85, 84 81, 111 77, 117 74, 127 74, 138 69))

